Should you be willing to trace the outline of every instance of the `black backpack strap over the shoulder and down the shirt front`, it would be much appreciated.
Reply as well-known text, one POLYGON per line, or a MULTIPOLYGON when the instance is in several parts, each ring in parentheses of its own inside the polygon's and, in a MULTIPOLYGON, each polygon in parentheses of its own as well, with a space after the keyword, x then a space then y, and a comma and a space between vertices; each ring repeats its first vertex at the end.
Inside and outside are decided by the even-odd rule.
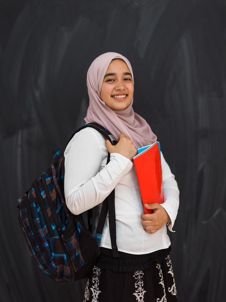
MULTIPOLYGON (((80 131, 81 129, 86 128, 86 127, 91 127, 91 128, 96 129, 106 139, 108 139, 112 143, 112 145, 117 144, 117 140, 115 139, 115 137, 106 128, 104 128, 103 126, 101 126, 97 123, 91 122, 91 123, 85 124, 85 125, 79 127, 78 129, 76 129, 75 132, 69 138, 67 145, 68 145, 69 141, 73 138, 75 133, 77 133, 78 131, 80 131)), ((110 153, 108 153, 107 164, 109 163, 109 161, 110 161, 110 153)), ((92 209, 90 209, 90 210, 92 210, 92 209)), ((109 232, 110 232, 110 238, 111 238, 113 257, 118 257, 119 253, 118 253, 118 248, 117 248, 117 243, 116 243, 116 222, 115 222, 115 189, 113 189, 113 191, 103 201, 103 204, 101 207, 101 213, 100 213, 98 224, 97 224, 96 234, 102 234, 108 211, 109 211, 109 232)), ((88 210, 88 223, 90 223, 89 222, 90 221, 89 213, 90 212, 88 210)))

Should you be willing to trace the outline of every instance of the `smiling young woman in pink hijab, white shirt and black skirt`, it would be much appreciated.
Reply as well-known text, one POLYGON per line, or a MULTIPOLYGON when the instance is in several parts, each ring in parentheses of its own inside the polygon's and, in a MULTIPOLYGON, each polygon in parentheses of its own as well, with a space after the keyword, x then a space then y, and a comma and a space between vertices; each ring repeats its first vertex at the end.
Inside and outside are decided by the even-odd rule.
POLYGON ((147 205, 153 214, 144 213, 133 157, 138 148, 154 143, 157 136, 133 111, 134 79, 129 60, 115 52, 98 56, 89 67, 87 86, 85 122, 103 125, 117 144, 111 145, 93 128, 74 135, 64 153, 65 199, 76 215, 97 205, 100 213, 102 202, 115 188, 119 257, 112 254, 107 215, 101 254, 87 279, 83 302, 177 301, 166 225, 174 232, 179 190, 161 152, 164 202, 147 205), (108 152, 110 162, 106 165, 108 152))

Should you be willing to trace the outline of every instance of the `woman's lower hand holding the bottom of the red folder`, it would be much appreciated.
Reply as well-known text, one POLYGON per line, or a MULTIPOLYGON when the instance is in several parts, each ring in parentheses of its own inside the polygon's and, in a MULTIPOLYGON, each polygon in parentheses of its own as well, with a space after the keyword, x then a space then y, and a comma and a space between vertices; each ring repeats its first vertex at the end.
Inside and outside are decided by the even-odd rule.
POLYGON ((161 204, 154 203, 149 205, 145 203, 145 208, 154 212, 153 214, 141 214, 141 223, 147 233, 153 234, 171 221, 161 204))

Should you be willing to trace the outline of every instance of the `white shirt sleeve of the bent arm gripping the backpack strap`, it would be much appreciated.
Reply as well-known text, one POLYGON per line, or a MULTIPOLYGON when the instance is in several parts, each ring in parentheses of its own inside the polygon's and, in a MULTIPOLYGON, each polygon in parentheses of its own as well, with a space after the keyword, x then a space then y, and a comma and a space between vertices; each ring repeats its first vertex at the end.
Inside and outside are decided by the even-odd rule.
POLYGON ((99 144, 97 135, 85 128, 74 135, 65 149, 65 201, 75 215, 103 202, 133 168, 129 158, 111 153, 109 163, 99 172, 102 163, 99 144))

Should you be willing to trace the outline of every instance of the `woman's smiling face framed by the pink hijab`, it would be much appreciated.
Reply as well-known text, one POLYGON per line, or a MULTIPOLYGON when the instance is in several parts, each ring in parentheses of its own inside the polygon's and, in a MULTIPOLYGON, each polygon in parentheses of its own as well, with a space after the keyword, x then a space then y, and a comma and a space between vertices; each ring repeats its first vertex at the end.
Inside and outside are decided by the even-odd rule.
POLYGON ((133 79, 129 67, 122 59, 113 59, 101 86, 101 100, 113 110, 123 110, 133 99, 133 79), (121 95, 125 96, 123 98, 121 95))

